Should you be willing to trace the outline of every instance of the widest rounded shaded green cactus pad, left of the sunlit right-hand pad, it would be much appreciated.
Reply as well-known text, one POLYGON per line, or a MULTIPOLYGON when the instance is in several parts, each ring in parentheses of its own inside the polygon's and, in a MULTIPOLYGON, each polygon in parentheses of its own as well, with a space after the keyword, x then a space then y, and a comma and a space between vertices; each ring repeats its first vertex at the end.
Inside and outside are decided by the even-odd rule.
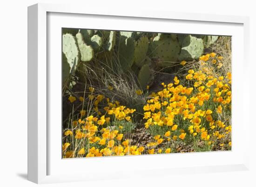
POLYGON ((149 57, 160 61, 177 61, 181 47, 176 37, 159 33, 149 45, 149 57))

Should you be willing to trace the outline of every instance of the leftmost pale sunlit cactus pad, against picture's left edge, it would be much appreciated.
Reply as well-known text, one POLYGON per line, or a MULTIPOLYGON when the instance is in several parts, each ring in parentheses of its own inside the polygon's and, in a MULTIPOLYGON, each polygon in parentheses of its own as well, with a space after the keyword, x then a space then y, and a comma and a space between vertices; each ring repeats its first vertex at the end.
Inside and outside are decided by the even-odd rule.
POLYGON ((67 63, 70 67, 70 73, 73 74, 78 65, 80 54, 76 40, 72 34, 62 35, 62 52, 67 58, 67 63))

